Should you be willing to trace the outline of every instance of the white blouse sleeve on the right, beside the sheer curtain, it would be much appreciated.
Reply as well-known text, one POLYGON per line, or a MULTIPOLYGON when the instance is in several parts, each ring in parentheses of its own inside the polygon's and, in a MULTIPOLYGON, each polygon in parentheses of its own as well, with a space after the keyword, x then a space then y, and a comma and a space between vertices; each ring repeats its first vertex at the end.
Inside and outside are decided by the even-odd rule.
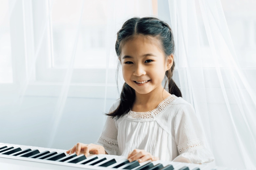
POLYGON ((174 136, 179 156, 173 161, 208 163, 214 161, 205 148, 203 130, 191 104, 184 104, 174 118, 174 136))

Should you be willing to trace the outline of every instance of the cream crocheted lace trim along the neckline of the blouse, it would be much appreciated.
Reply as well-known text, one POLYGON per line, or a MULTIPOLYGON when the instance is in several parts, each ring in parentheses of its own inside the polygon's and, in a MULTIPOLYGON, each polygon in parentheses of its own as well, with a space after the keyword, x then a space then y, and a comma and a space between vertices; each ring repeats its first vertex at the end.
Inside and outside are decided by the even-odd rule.
MULTIPOLYGON (((126 116, 127 119, 134 121, 151 121, 157 118, 161 112, 163 112, 168 105, 170 105, 176 98, 176 95, 172 94, 164 99, 156 109, 147 112, 135 112, 130 111, 126 116)), ((182 98, 182 97, 181 97, 182 98)))

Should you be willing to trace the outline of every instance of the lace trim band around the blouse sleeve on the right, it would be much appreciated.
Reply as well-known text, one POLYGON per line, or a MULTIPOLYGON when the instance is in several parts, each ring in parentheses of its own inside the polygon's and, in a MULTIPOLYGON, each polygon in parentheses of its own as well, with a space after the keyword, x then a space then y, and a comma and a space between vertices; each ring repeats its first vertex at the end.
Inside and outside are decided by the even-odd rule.
POLYGON ((183 152, 189 152, 189 151, 193 151, 193 150, 196 150, 199 148, 203 148, 204 147, 204 138, 188 141, 183 144, 180 144, 177 147, 178 147, 179 154, 181 154, 183 152))

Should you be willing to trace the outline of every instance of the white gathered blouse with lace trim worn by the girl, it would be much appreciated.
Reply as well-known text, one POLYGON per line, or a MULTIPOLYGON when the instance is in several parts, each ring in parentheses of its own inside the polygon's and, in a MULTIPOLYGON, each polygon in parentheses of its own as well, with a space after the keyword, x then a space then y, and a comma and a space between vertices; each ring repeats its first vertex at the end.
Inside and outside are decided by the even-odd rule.
MULTIPOLYGON (((120 99, 110 108, 117 109, 120 99)), ((118 120, 108 116, 95 144, 109 155, 128 156, 144 149, 160 160, 208 163, 213 155, 205 148, 202 127, 193 106, 174 94, 148 112, 130 111, 118 120)))

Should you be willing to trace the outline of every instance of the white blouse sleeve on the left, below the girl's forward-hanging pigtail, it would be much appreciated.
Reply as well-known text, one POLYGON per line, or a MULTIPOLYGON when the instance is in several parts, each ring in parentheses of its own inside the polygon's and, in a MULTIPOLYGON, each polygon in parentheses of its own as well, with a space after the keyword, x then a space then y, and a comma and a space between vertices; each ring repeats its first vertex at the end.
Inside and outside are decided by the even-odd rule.
MULTIPOLYGON (((117 102, 115 102, 110 108, 109 112, 116 110, 117 102)), ((119 155, 118 143, 117 143, 117 126, 115 120, 111 116, 107 116, 106 123, 103 130, 95 144, 102 145, 105 151, 109 155, 119 155)))

